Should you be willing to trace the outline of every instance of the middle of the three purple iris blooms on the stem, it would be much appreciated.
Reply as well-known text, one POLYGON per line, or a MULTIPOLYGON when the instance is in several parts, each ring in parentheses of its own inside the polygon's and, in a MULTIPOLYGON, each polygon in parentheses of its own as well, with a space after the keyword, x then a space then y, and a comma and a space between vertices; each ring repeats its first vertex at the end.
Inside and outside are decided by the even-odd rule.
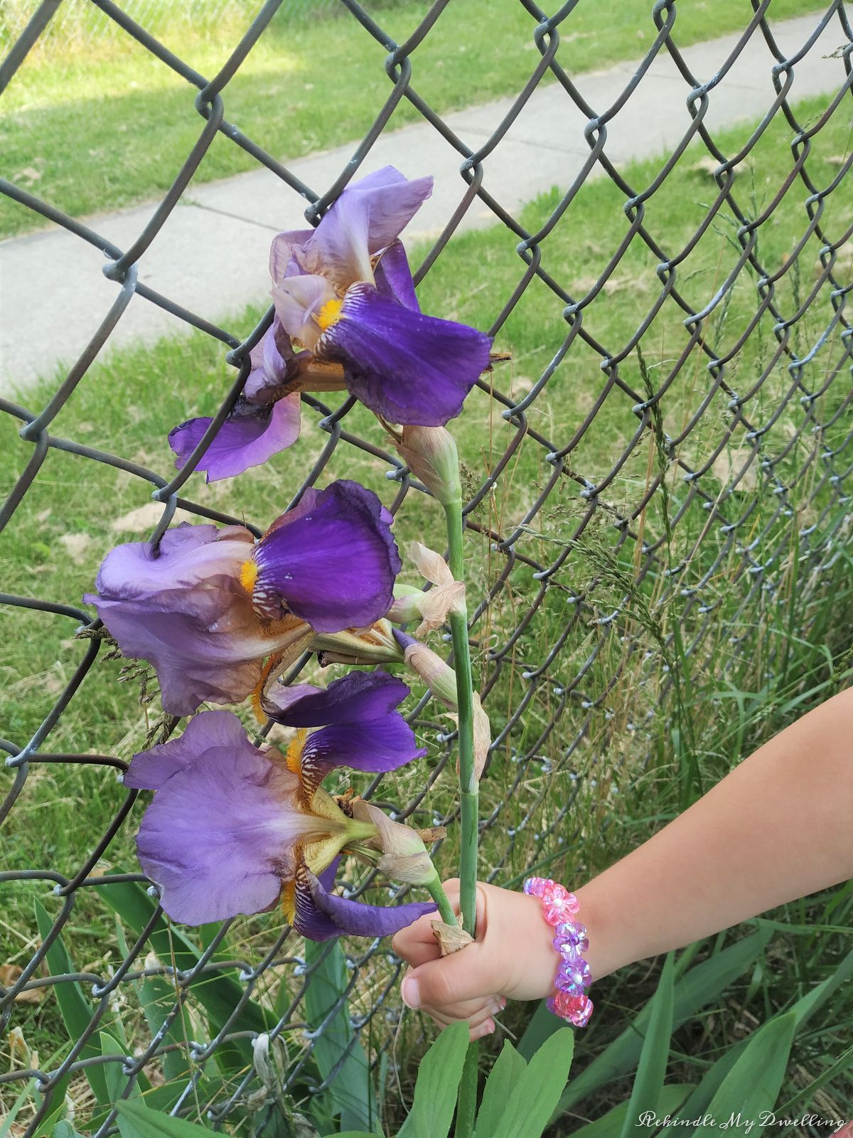
POLYGON ((337 481, 306 490, 258 542, 242 526, 183 525, 157 556, 146 542, 119 545, 84 600, 126 657, 154 665, 164 710, 183 716, 245 699, 315 634, 379 620, 399 569, 376 495, 337 481))

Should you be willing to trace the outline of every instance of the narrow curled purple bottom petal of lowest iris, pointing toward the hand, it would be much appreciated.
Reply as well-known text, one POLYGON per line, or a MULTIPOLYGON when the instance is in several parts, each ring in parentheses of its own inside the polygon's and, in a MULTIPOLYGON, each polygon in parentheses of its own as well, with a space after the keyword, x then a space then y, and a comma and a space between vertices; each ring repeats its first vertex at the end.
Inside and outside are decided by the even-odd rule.
MULTIPOLYGON (((324 875, 325 876, 325 875, 324 875)), ((365 905, 336 897, 306 869, 297 880, 293 927, 309 940, 329 940, 348 933, 351 937, 391 937, 428 913, 432 901, 407 905, 365 905)))

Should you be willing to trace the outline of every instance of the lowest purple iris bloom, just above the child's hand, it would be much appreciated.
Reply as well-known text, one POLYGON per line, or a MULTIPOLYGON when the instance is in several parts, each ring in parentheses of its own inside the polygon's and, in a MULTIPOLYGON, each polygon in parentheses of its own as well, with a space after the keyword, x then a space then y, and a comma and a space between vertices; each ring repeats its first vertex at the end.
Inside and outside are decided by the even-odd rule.
POLYGON ((341 851, 378 827, 350 817, 322 781, 336 767, 386 772, 425 753, 396 710, 407 694, 392 676, 353 673, 328 692, 300 685, 282 700, 282 719, 304 725, 287 754, 256 749, 232 712, 202 711, 180 739, 134 756, 125 785, 156 791, 139 859, 165 912, 204 924, 280 902, 312 940, 384 937, 434 912, 331 892, 341 851))

